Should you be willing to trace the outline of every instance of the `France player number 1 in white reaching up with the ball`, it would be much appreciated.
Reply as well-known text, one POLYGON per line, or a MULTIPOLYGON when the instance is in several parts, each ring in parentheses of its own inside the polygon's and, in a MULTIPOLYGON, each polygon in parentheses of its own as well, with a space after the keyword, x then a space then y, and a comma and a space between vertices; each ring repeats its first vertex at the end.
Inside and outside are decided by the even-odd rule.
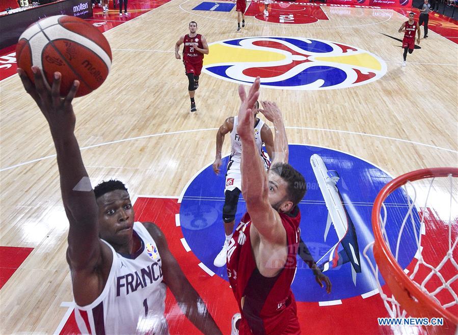
MULTIPOLYGON (((74 135, 72 99, 79 82, 65 98, 59 95, 61 74, 45 86, 38 67, 35 84, 22 69, 25 90, 49 124, 57 151, 62 200, 70 227, 70 266, 75 316, 83 334, 167 334, 165 285, 182 312, 205 334, 221 334, 205 303, 187 281, 160 229, 151 222, 133 222, 129 193, 119 181, 94 190, 74 135)), ((117 157, 119 158, 119 157, 117 157)))

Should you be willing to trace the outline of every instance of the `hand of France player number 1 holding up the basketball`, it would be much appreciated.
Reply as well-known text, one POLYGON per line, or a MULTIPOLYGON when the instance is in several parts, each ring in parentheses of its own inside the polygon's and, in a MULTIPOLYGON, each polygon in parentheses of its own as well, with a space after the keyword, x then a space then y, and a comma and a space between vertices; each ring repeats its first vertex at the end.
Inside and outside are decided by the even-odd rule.
POLYGON ((64 137, 73 134, 75 115, 71 103, 78 90, 79 81, 75 80, 67 96, 62 98, 60 96, 62 78, 60 72, 54 73, 51 87, 44 82, 40 68, 32 66, 32 72, 34 73, 35 83, 29 79, 24 70, 17 69, 25 91, 32 96, 38 107, 40 107, 41 113, 43 113, 49 124, 52 136, 64 137))

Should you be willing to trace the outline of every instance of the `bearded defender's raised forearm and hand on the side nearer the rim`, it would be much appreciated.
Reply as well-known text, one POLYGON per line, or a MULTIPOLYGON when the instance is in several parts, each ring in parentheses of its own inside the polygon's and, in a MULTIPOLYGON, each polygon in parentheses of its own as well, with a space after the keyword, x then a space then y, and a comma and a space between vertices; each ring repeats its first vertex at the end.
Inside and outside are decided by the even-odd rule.
POLYGON ((288 138, 286 137, 286 129, 280 108, 272 101, 261 101, 261 105, 263 107, 263 109, 260 109, 261 113, 274 124, 275 129, 274 157, 271 158, 272 165, 287 163, 289 157, 288 138))

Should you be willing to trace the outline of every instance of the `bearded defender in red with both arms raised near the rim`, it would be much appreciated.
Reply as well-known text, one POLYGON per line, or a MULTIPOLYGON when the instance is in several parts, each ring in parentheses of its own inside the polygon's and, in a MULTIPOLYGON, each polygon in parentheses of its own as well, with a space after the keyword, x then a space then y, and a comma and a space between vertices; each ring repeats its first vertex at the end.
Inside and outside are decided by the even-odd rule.
POLYGON ((241 314, 240 334, 298 334, 291 283, 300 241, 297 205, 306 192, 306 182, 287 163, 288 142, 281 111, 270 101, 263 101, 260 110, 273 122, 276 134, 272 165, 267 173, 264 171, 256 153, 250 108, 259 96, 259 85, 257 77, 248 96, 243 86, 239 87, 241 191, 248 213, 229 242, 227 273, 241 314))

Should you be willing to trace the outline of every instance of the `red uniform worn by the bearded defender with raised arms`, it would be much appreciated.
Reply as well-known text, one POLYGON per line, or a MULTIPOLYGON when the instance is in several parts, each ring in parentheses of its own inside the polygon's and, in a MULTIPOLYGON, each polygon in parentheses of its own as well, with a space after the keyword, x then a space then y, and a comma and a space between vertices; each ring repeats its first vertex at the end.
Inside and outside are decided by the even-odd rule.
POLYGON ((291 283, 296 270, 301 212, 295 207, 290 214, 279 214, 286 230, 288 257, 275 277, 264 277, 256 267, 250 242, 250 214, 241 218, 229 242, 227 274, 241 314, 240 335, 300 333, 291 283))

